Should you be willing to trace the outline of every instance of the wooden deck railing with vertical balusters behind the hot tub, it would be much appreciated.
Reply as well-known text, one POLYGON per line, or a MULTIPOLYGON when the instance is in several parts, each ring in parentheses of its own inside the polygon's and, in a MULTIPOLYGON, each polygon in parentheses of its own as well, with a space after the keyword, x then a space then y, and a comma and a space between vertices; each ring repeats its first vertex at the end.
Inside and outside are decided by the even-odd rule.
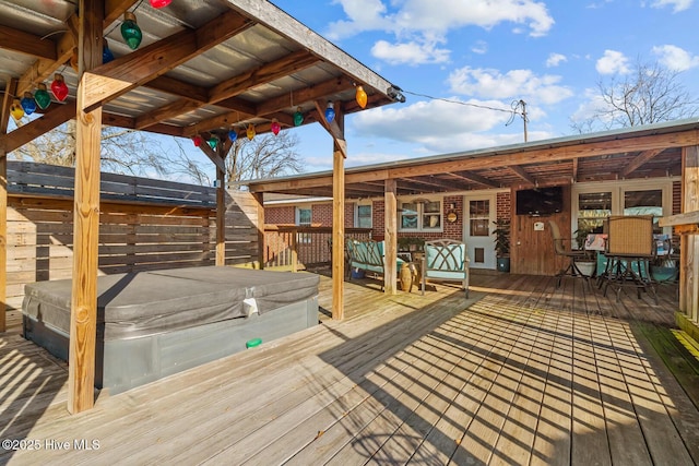
MULTIPOLYGON (((345 238, 370 239, 371 228, 345 228, 345 238)), ((329 265, 332 227, 264 226, 264 267, 294 272, 329 265)))

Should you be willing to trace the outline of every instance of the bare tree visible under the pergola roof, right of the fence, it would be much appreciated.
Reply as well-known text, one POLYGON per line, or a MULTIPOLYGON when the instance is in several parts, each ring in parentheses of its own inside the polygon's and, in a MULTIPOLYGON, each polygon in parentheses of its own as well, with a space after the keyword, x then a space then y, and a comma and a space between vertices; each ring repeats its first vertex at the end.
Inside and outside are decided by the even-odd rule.
POLYGON ((226 179, 232 188, 242 180, 273 178, 301 171, 296 152, 298 136, 291 131, 263 134, 249 141, 239 138, 226 157, 226 179))

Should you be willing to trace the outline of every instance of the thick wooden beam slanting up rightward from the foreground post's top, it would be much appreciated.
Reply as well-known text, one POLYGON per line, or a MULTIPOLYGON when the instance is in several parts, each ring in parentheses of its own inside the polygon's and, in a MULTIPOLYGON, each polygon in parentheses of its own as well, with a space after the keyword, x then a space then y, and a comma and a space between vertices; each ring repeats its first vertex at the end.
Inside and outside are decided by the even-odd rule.
POLYGON ((227 11, 196 31, 173 34, 96 68, 84 77, 88 93, 83 110, 114 100, 250 26, 250 20, 227 11))

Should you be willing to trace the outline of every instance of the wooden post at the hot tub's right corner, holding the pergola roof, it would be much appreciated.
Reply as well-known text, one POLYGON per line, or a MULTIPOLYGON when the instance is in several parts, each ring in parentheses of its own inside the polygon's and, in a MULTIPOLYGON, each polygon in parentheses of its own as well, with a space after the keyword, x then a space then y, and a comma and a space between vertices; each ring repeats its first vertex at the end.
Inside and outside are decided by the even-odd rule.
MULTIPOLYGON (((344 138, 344 113, 335 109, 335 121, 344 138)), ((332 153, 332 318, 345 318, 345 154, 344 139, 333 138, 332 153)))

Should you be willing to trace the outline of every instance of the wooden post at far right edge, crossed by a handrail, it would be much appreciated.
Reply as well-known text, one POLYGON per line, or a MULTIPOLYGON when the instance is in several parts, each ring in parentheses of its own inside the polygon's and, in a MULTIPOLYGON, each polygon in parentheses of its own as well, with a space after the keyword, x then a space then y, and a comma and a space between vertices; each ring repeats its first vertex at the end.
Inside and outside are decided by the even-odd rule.
MULTIPOLYGON (((682 154, 682 212, 699 211, 699 146, 682 154)), ((683 235, 679 252, 679 311, 699 323, 699 235, 683 235)))

